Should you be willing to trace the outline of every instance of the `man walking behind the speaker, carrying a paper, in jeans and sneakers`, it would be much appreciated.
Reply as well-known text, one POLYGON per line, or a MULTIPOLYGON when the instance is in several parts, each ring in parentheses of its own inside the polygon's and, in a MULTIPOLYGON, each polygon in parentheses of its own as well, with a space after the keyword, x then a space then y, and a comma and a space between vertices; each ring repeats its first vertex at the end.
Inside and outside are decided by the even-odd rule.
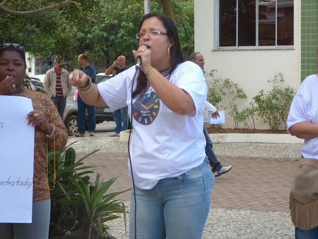
MULTIPOLYGON (((201 69, 204 69, 204 57, 200 52, 194 52, 191 54, 190 56, 190 61, 196 63, 198 66, 201 67, 201 69)), ((217 111, 217 109, 208 101, 205 102, 205 109, 203 112, 203 119, 204 122, 210 122, 210 115, 211 118, 218 118, 219 112, 217 111)), ((227 166, 227 167, 223 167, 222 164, 220 163, 220 161, 218 161, 214 151, 213 151, 213 145, 212 145, 212 140, 209 136, 208 130, 204 124, 203 126, 203 133, 206 139, 206 146, 205 146, 205 153, 208 156, 209 159, 209 164, 212 167, 212 172, 214 173, 215 177, 219 177, 224 173, 229 172, 232 169, 232 165, 227 166)))

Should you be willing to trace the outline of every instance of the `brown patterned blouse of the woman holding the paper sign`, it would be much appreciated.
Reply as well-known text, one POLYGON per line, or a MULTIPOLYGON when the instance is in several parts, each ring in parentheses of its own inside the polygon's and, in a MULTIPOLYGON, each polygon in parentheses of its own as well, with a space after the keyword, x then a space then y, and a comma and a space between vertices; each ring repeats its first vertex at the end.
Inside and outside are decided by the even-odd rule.
MULTIPOLYGON (((25 89, 15 95, 32 100, 33 111, 46 116, 49 123, 55 127, 55 149, 65 147, 68 141, 68 130, 65 127, 55 105, 45 94, 25 89)), ((53 137, 48 139, 48 145, 53 149, 53 137)), ((46 178, 46 137, 39 128, 35 129, 34 138, 34 170, 33 170, 33 202, 50 199, 48 180, 46 178)))

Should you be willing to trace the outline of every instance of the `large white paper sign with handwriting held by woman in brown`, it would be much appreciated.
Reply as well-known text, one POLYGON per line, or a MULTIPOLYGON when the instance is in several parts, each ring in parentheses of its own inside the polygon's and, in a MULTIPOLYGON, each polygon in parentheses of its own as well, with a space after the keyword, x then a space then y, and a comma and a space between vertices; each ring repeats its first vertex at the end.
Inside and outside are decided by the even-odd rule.
POLYGON ((25 97, 0 96, 0 223, 31 223, 34 127, 25 97))

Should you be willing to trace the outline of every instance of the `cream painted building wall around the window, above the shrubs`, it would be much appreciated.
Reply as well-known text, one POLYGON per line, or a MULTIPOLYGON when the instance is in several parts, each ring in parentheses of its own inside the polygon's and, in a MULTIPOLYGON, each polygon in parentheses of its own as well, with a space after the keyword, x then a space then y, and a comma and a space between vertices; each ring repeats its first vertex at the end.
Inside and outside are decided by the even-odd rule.
MULTIPOLYGON (((249 107, 251 98, 260 90, 269 90, 267 81, 279 72, 285 86, 297 90, 301 83, 301 1, 294 0, 294 48, 275 50, 218 50, 214 42, 218 34, 214 22, 217 3, 218 0, 194 1, 195 51, 203 54, 206 72, 217 69, 216 78, 230 78, 244 90, 247 99, 238 104, 239 111, 249 107)), ((226 121, 223 127, 234 127, 231 117, 227 116, 226 121)), ((256 127, 265 128, 261 120, 256 127)))

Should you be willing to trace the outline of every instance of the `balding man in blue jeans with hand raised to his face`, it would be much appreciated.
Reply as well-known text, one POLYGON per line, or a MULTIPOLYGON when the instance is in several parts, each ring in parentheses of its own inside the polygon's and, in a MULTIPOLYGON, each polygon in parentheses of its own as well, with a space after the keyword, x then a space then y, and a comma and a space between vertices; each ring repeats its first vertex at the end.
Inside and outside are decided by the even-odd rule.
MULTIPOLYGON (((116 75, 126 71, 128 67, 126 66, 126 57, 119 56, 113 64, 107 68, 105 75, 110 75, 112 70, 116 71, 116 75)), ((113 112, 114 121, 116 123, 115 131, 109 136, 119 136, 120 131, 124 131, 128 128, 128 112, 127 106, 113 112), (121 123, 123 121, 123 124, 121 123)))

